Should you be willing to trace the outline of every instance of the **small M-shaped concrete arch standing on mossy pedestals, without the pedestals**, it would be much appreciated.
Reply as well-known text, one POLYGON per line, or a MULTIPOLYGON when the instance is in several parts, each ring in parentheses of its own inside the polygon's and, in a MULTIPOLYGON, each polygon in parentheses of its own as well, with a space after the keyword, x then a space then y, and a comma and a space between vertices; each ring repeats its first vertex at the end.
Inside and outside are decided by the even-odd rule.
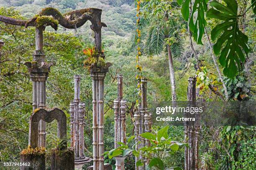
MULTIPOLYGON (((60 139, 66 138, 67 136, 67 117, 65 113, 59 108, 53 110, 45 110, 43 108, 37 108, 29 119, 29 134, 28 134, 28 145, 32 148, 38 147, 38 124, 40 120, 45 122, 52 122, 57 120, 58 128, 57 134, 60 139)), ((67 142, 64 143, 67 147, 67 142)))

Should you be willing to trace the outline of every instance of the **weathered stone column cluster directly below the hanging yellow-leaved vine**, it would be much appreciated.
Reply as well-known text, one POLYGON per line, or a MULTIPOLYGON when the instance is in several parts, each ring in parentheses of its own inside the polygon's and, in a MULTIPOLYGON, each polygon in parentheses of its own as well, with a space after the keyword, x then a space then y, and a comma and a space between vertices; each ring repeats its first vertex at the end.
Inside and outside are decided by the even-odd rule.
MULTIPOLYGON (((151 132, 151 113, 148 112, 148 106, 147 106, 147 79, 142 78, 141 79, 141 105, 138 112, 135 112, 134 114, 134 135, 135 135, 135 141, 136 143, 138 141, 141 141, 139 145, 136 145, 136 150, 139 150, 142 147, 150 146, 150 142, 141 136, 139 134, 145 133, 145 132, 151 132)), ((141 151, 142 153, 142 151, 141 151)), ((144 158, 142 155, 139 155, 139 157, 135 157, 135 165, 138 160, 144 161, 144 165, 140 167, 136 167, 136 170, 145 170, 145 167, 148 163, 148 159, 144 158)))

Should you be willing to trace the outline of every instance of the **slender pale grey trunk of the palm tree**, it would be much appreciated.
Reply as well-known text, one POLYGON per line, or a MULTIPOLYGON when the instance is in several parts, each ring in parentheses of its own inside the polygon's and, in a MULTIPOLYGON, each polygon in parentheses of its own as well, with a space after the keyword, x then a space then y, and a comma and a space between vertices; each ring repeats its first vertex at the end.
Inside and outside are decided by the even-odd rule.
POLYGON ((176 101, 176 85, 175 85, 175 79, 174 79, 174 67, 173 67, 173 62, 172 62, 172 52, 170 45, 167 44, 167 52, 168 52, 168 59, 169 59, 169 70, 170 70, 170 80, 171 80, 171 85, 172 85, 172 101, 176 101))

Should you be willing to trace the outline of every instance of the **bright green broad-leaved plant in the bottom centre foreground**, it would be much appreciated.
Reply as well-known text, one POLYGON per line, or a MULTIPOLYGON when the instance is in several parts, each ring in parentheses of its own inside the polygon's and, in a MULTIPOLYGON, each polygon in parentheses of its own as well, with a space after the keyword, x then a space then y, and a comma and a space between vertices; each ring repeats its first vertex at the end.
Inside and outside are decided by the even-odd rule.
MULTIPOLYGON (((118 148, 110 150, 109 152, 105 152, 108 154, 109 158, 113 158, 117 155, 126 156, 132 153, 135 156, 143 156, 144 158, 148 158, 149 163, 146 165, 146 169, 150 170, 151 168, 157 168, 159 170, 164 170, 165 165, 163 162, 163 158, 166 154, 174 154, 181 146, 187 146, 185 143, 179 143, 177 141, 172 141, 171 137, 168 136, 168 128, 169 126, 165 126, 164 128, 160 129, 156 134, 153 133, 141 133, 140 136, 151 143, 151 146, 145 146, 140 148, 139 150, 135 150, 135 146, 140 144, 137 142, 133 145, 132 149, 128 148, 128 145, 125 145, 122 142, 118 142, 120 145, 118 148)), ((128 138, 127 143, 131 142, 134 136, 128 138)), ((138 160, 136 166, 144 165, 144 160, 138 160)), ((171 167, 174 170, 181 170, 179 167, 171 167)))

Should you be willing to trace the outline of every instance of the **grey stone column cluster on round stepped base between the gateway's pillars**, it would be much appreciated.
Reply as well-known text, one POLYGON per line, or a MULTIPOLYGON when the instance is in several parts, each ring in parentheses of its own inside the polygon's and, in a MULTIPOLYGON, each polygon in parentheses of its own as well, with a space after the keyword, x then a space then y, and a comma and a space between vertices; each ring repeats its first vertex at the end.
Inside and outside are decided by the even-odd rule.
POLYGON ((80 100, 80 75, 74 75, 74 101, 70 102, 70 145, 74 148, 75 165, 92 159, 84 156, 84 103, 80 100))

